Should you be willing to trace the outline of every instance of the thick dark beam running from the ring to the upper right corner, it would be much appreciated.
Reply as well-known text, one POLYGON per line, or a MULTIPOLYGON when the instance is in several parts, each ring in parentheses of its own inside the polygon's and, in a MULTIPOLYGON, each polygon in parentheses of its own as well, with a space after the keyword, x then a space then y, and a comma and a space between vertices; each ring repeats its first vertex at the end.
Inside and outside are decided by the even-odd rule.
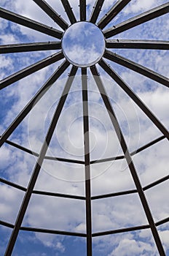
POLYGON ((152 10, 143 12, 140 15, 130 18, 129 20, 125 20, 124 22, 119 23, 116 26, 111 27, 110 29, 106 29, 105 31, 103 31, 103 34, 106 38, 113 37, 116 34, 126 31, 127 29, 134 28, 135 26, 138 26, 142 23, 145 23, 146 21, 157 18, 168 12, 169 12, 169 3, 162 4, 159 7, 155 7, 152 10))

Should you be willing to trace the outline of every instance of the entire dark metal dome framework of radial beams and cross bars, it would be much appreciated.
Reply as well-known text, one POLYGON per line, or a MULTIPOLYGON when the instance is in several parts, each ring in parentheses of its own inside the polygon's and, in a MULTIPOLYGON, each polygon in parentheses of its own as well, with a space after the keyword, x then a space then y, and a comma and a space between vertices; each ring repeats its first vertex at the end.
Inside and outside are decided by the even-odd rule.
MULTIPOLYGON (((154 40, 154 39, 144 39, 142 35, 140 35, 141 39, 119 39, 121 38, 121 33, 130 31, 130 29, 137 28, 142 24, 149 23, 150 20, 156 20, 160 17, 167 17, 169 11, 169 3, 162 4, 160 6, 154 7, 146 12, 141 12, 141 14, 135 15, 127 20, 123 20, 124 10, 132 4, 132 0, 119 0, 112 1, 114 4, 109 7, 109 10, 104 12, 104 0, 96 0, 93 6, 92 12, 89 13, 88 4, 86 0, 77 1, 77 6, 79 6, 79 15, 76 17, 76 12, 71 7, 71 1, 68 0, 58 0, 62 5, 65 15, 67 18, 62 17, 62 15, 58 14, 58 10, 54 10, 47 1, 44 0, 34 0, 32 4, 37 5, 41 11, 48 15, 56 25, 55 27, 47 26, 44 23, 39 23, 36 20, 32 20, 30 18, 26 18, 23 15, 17 14, 15 12, 6 10, 4 8, 0 8, 0 17, 3 20, 8 20, 11 23, 19 24, 25 28, 31 29, 32 31, 39 31, 45 36, 53 37, 53 41, 47 42, 24 42, 24 43, 13 43, 9 45, 0 45, 0 53, 2 56, 12 56, 12 54, 16 53, 37 53, 37 52, 45 52, 52 50, 52 56, 45 56, 44 59, 38 60, 36 63, 29 65, 28 67, 24 67, 19 71, 13 73, 12 75, 3 78, 0 81, 0 89, 7 89, 15 84, 23 78, 29 78, 29 76, 36 74, 40 70, 49 67, 52 64, 59 63, 59 66, 52 73, 50 78, 39 88, 39 91, 36 91, 34 96, 28 101, 27 105, 23 107, 20 113, 17 113, 17 116, 11 120, 11 123, 4 129, 4 132, 1 133, 0 138, 0 146, 9 146, 12 148, 16 148, 17 150, 24 151, 25 154, 34 155, 36 159, 36 163, 34 165, 33 170, 31 170, 31 178, 28 181, 28 186, 23 187, 20 184, 9 181, 4 176, 1 176, 0 181, 1 184, 6 184, 9 187, 13 187, 18 189, 24 193, 22 203, 20 205, 20 209, 17 212, 17 217, 14 223, 9 223, 5 219, 0 219, 0 224, 3 227, 8 227, 12 230, 9 241, 7 243, 7 248, 5 252, 5 256, 12 255, 13 250, 15 249, 15 244, 17 241, 17 236, 20 231, 27 231, 33 233, 46 233, 46 234, 55 234, 55 236, 71 236, 71 237, 79 237, 86 239, 86 255, 93 255, 93 238, 101 238, 108 235, 112 235, 112 239, 116 234, 130 233, 135 232, 137 230, 149 230, 152 234, 152 238, 154 239, 154 244, 156 246, 157 252, 159 255, 166 255, 165 246, 162 242, 162 238, 160 237, 160 227, 161 225, 168 224, 169 217, 165 217, 162 219, 154 219, 152 214, 152 209, 149 206, 149 200, 147 200, 146 192, 149 189, 159 186, 168 181, 169 176, 165 175, 155 180, 152 180, 149 184, 145 186, 141 182, 141 178, 139 172, 137 170, 137 166, 134 163, 133 157, 139 154, 140 152, 144 152, 147 150, 151 150, 153 146, 158 146, 158 143, 162 141, 168 141, 169 133, 165 124, 161 121, 157 115, 150 110, 149 105, 146 104, 141 97, 135 92, 134 89, 131 89, 130 86, 126 83, 125 79, 117 72, 115 69, 117 65, 119 67, 125 68, 127 72, 134 72, 144 76, 145 79, 151 80, 151 83, 158 83, 158 86, 164 86, 164 88, 169 86, 168 78, 164 75, 161 75, 159 72, 155 72, 152 69, 145 67, 142 64, 138 64, 138 62, 130 60, 130 58, 126 58, 123 56, 125 50, 130 53, 130 50, 135 50, 135 54, 138 53, 138 50, 146 51, 152 50, 152 52, 166 52, 169 49, 169 42, 164 40, 154 40), (89 17, 88 17, 89 16, 89 17), (122 22, 117 23, 117 18, 120 17, 122 22), (76 23, 92 23, 94 24, 101 34, 103 34, 105 48, 103 53, 101 53, 100 58, 96 58, 95 61, 91 62, 91 64, 76 64, 70 59, 67 58, 63 49, 63 37, 66 34, 66 31, 76 23), (119 54, 119 51, 122 50, 119 54), (47 127, 47 131, 45 134, 44 141, 42 143, 41 149, 39 152, 32 151, 31 148, 27 148, 20 143, 16 143, 12 141, 10 136, 17 130, 17 127, 27 118, 27 116, 31 113, 31 111, 39 104, 40 100, 47 94, 53 84, 56 83, 60 77, 67 74, 66 83, 63 85, 62 94, 57 102, 57 106, 55 111, 53 111, 53 117, 51 118, 49 127, 47 127), (76 80, 77 73, 80 72, 81 79, 81 92, 82 92, 82 124, 83 124, 83 149, 84 149, 84 159, 68 159, 66 157, 58 157, 53 156, 50 157, 47 152, 50 147, 50 143, 52 141, 52 137, 55 134, 55 129, 58 125, 59 118, 63 113, 64 106, 66 104, 66 100, 68 99, 68 95, 70 95, 71 86, 76 80), (134 102, 141 113, 152 122, 154 127, 160 132, 160 136, 158 138, 154 138, 153 140, 149 140, 147 143, 142 144, 138 148, 135 148, 134 151, 130 151, 130 148, 127 145, 127 140, 125 138, 124 129, 121 127, 119 122, 119 117, 116 114, 116 109, 114 108, 114 104, 112 103, 109 97, 109 91, 106 89, 106 82, 104 80, 104 75, 109 77, 109 80, 112 80, 116 85, 134 102), (100 158, 100 159, 91 159, 90 156, 90 90, 88 89, 88 77, 93 79, 93 83, 97 87, 99 92, 99 97, 103 102, 104 108, 107 111, 109 116, 109 120, 114 129, 114 132, 119 141, 119 146, 121 148, 122 154, 112 155, 109 158, 100 158), (9 138, 10 137, 10 138, 9 138), (124 159, 127 165, 128 170, 130 171, 130 176, 132 177, 133 184, 135 186, 134 189, 127 189, 118 192, 110 192, 107 194, 101 195, 92 195, 91 193, 91 182, 92 182, 92 170, 91 167, 93 165, 97 165, 98 163, 105 162, 116 162, 120 159, 124 159), (42 165, 44 161, 56 161, 56 162, 66 162, 73 163, 76 165, 82 165, 84 167, 84 196, 81 195, 71 195, 67 193, 59 193, 59 192, 49 192, 42 191, 35 188, 36 181, 39 177, 39 173, 42 171, 42 165), (25 217, 25 213, 28 209, 28 205, 31 202, 31 197, 33 195, 43 195, 48 200, 49 197, 59 197, 59 198, 67 198, 74 199, 78 202, 81 200, 85 205, 85 230, 86 232, 71 232, 69 230, 55 230, 49 228, 42 227, 29 227, 23 225, 23 219, 25 217), (143 225, 133 225, 107 229, 101 232, 93 232, 93 201, 97 200, 106 200, 122 197, 125 195, 137 195, 141 206, 143 208, 144 214, 146 216, 146 224, 143 225)), ((134 4, 134 3, 133 3, 134 4)), ((2 20, 1 19, 1 20, 2 20)), ((145 27, 146 28, 146 27, 145 27)), ((87 31, 84 31, 86 33, 87 31)), ((15 30, 13 31, 15 33, 15 30)), ((149 31, 147 31, 149 34, 149 31)), ((127 35, 127 34, 126 34, 127 35)), ((30 79, 30 83, 31 79, 30 79)), ((133 80, 133 83, 137 83, 137 81, 133 80)), ((24 84, 23 84, 24 86, 24 84)), ((144 87, 144 84, 143 84, 144 87)), ((140 89, 141 91, 141 89, 140 89)), ((57 94, 57 91, 56 91, 57 94)), ((152 92, 153 97, 153 92, 152 92)), ((116 100, 116 99, 113 99, 116 100)), ((162 99, 161 99, 162 101, 162 99)), ((1 119, 3 123, 3 120, 1 119)), ((144 133, 145 131, 141 131, 144 133)), ((133 137, 131 135, 131 140, 133 137)), ((114 140, 112 139, 112 143, 114 140)), ((143 162, 144 165, 144 162, 143 162)), ((23 170, 24 171, 24 170, 23 170)), ((70 170, 71 171, 71 170, 70 170)), ((71 175, 71 174, 70 174, 71 175)), ((112 176, 112 179, 114 176, 112 176)), ((103 181, 104 182, 104 181, 103 181)), ((106 184, 105 184, 106 186, 106 184)), ((112 187, 112 191, 114 191, 112 187)), ((166 207, 168 207, 168 202, 166 201, 166 207)), ((127 211, 127 209, 126 209, 127 211)), ((57 212, 57 208, 55 209, 57 212)), ((135 213, 137 214, 137 213, 135 213)), ((0 217, 1 218, 1 217, 0 217)), ((38 217, 37 217, 38 218, 38 217)), ((125 217, 124 217, 125 218, 125 217)))

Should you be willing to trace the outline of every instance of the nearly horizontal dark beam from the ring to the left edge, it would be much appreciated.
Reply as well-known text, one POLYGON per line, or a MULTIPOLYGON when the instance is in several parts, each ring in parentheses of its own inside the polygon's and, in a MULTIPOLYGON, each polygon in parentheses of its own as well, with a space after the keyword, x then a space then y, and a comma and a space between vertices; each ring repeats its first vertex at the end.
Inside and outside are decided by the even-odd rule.
POLYGON ((24 53, 36 50, 59 50, 61 42, 32 42, 26 44, 0 45, 0 53, 24 53))

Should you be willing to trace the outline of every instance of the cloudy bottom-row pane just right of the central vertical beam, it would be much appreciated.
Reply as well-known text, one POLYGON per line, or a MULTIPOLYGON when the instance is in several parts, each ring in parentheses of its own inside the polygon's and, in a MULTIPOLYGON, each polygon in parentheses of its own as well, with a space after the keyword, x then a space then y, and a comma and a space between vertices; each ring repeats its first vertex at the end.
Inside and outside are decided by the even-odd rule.
POLYGON ((151 230, 139 230, 93 238, 94 256, 158 256, 151 230))

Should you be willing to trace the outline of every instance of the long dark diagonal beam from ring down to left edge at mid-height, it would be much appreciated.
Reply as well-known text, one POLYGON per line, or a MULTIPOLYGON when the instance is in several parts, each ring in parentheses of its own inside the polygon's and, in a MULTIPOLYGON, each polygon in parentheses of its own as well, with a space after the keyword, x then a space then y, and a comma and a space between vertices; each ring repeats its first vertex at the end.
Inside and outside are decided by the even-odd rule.
POLYGON ((53 83, 63 74, 63 72, 68 68, 68 61, 64 61, 63 64, 54 72, 54 74, 44 83, 44 86, 34 95, 34 97, 28 102, 28 104, 23 108, 23 110, 19 113, 19 115, 15 118, 12 124, 6 129, 6 131, 1 135, 0 138, 0 147, 4 144, 4 142, 9 138, 12 132, 17 128, 17 126, 23 121, 25 116, 34 108, 34 106, 39 102, 39 100, 43 97, 43 95, 50 89, 53 83))

